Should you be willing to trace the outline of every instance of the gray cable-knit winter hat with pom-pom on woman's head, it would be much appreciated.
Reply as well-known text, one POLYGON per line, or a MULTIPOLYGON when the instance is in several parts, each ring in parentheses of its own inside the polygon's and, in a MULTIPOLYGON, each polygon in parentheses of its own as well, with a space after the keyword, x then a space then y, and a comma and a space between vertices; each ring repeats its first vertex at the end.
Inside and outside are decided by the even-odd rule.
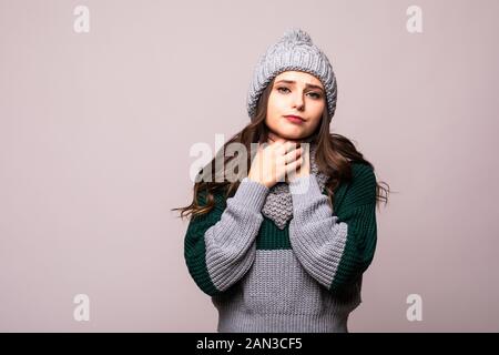
POLYGON ((304 71, 320 80, 326 91, 330 122, 336 109, 337 93, 333 67, 326 54, 312 42, 310 36, 298 28, 287 30, 284 37, 261 57, 247 93, 249 118, 255 118, 256 104, 268 83, 287 70, 304 71))

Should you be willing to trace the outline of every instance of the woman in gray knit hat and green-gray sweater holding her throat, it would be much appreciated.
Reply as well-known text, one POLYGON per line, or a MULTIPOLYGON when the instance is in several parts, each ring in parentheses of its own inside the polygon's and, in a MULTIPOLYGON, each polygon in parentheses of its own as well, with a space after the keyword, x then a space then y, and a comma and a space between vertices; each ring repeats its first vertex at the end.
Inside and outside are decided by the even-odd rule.
POLYGON ((388 191, 348 139, 329 133, 336 93, 327 57, 288 30, 255 68, 252 122, 200 172, 191 205, 175 209, 192 215, 185 261, 218 332, 348 332, 388 191), (258 149, 226 156, 233 143, 258 149), (215 179, 234 165, 240 179, 215 179))

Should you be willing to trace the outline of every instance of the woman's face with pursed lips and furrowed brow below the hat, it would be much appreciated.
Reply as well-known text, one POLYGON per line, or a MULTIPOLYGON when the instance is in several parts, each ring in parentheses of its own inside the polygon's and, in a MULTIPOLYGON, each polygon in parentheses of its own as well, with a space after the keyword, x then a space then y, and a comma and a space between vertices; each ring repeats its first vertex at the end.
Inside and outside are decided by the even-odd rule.
POLYGON ((274 80, 265 123, 269 136, 286 140, 305 139, 314 133, 326 110, 326 95, 320 80, 302 71, 285 71, 274 80), (294 115, 301 120, 286 118, 294 115))

